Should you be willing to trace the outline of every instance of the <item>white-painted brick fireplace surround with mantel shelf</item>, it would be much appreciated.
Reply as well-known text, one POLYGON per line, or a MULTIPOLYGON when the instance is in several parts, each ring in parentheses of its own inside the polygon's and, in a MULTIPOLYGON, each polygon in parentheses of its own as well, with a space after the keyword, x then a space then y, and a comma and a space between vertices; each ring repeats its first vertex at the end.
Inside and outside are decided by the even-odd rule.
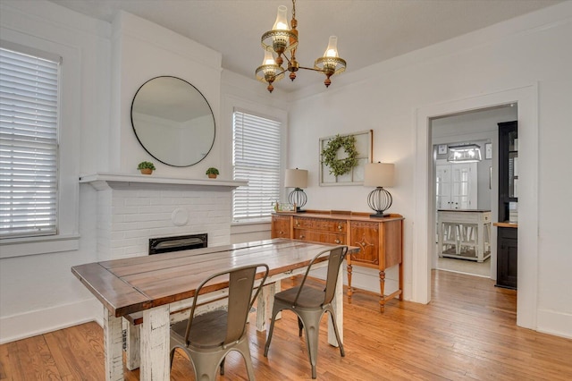
POLYGON ((149 238, 208 234, 208 246, 231 241, 232 190, 247 182, 146 175, 80 177, 97 190, 97 258, 147 255, 149 238))

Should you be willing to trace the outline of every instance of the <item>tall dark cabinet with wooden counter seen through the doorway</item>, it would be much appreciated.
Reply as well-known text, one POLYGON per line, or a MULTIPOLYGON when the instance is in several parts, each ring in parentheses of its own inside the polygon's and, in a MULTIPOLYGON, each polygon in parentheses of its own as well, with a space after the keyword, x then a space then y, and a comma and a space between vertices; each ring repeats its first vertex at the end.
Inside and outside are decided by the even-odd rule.
POLYGON ((497 286, 517 289, 518 125, 499 123, 497 286))

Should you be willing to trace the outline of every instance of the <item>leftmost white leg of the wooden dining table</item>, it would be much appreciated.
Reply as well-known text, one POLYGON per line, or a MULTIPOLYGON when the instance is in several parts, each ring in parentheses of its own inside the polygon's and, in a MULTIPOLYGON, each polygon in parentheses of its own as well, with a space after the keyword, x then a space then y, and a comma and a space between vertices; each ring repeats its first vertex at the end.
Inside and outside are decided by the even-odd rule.
POLYGON ((123 379, 122 318, 104 307, 105 380, 123 379))

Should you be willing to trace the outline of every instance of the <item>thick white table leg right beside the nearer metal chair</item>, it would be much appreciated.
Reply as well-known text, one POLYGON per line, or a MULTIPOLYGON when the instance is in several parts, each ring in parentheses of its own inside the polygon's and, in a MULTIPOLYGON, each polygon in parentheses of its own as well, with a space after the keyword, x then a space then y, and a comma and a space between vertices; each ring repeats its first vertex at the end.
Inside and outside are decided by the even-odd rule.
POLYGON ((170 379, 168 304, 143 311, 139 370, 141 381, 170 379))

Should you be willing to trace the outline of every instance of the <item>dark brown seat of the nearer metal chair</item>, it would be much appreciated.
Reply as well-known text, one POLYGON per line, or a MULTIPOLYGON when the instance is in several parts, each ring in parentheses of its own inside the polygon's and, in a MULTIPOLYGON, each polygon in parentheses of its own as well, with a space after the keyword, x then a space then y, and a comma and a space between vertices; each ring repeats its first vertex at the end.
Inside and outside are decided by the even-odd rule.
MULTIPOLYGON (((220 309, 195 316, 190 327, 189 345, 198 348, 222 346, 226 337, 227 315, 226 310, 220 309)), ((179 336, 183 344, 187 324, 188 320, 183 320, 171 326, 172 334, 179 336)))

